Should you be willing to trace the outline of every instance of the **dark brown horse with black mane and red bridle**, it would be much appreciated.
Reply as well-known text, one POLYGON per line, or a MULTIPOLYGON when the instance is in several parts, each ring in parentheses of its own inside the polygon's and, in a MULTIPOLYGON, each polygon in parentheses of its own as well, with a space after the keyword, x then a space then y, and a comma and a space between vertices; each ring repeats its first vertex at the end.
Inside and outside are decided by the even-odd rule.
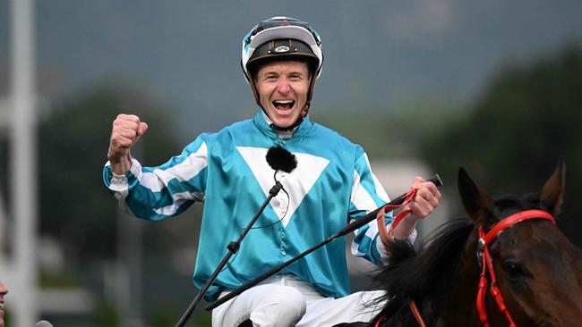
POLYGON ((418 319, 426 326, 582 326, 582 251, 552 218, 560 214, 563 180, 560 164, 539 193, 492 199, 461 169, 458 189, 471 220, 449 222, 418 254, 392 244, 392 262, 378 277, 388 305, 371 323, 342 326, 419 326, 418 319), (529 217, 508 223, 516 214, 529 217), (496 235, 485 238, 479 226, 496 235), (492 272, 483 269, 484 252, 492 272), (475 304, 480 284, 481 312, 475 304), (412 314, 411 300, 422 318, 412 314))

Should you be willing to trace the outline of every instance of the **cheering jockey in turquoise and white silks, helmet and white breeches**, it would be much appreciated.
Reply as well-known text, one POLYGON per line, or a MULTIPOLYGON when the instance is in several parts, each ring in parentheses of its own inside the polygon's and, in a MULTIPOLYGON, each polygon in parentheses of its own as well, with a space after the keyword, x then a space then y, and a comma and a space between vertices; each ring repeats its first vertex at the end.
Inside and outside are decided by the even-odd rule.
MULTIPOLYGON (((198 288, 267 197, 275 173, 265 160, 268 149, 280 146, 295 155, 296 169, 278 175, 285 192, 270 201, 237 255, 218 274, 207 300, 328 239, 346 226, 347 217, 357 219, 389 202, 364 149, 309 118, 322 63, 321 38, 308 23, 273 17, 243 39, 241 65, 260 107, 252 119, 202 133, 181 155, 157 167, 141 166, 130 153, 147 123, 131 114, 120 114, 113 123, 103 177, 129 213, 159 221, 202 202, 193 273, 198 288)), ((441 197, 421 178, 412 187, 417 189, 409 204, 412 214, 390 231, 411 242, 415 223, 431 214, 441 197)), ((386 224, 391 221, 387 214, 386 224)), ((378 234, 376 222, 360 228, 352 253, 381 264, 388 254, 378 234)), ((345 239, 336 239, 218 306, 212 325, 331 326, 371 320, 376 311, 362 304, 380 293, 350 294, 345 248, 345 239)))

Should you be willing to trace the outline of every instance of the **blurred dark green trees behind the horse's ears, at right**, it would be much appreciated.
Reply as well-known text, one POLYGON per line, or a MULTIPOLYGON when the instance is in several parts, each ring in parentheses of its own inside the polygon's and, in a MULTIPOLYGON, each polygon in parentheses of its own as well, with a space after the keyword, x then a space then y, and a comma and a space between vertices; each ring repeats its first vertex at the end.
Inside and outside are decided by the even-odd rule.
POLYGON ((541 189, 565 158, 562 231, 578 246, 582 221, 582 48, 522 67, 507 67, 486 88, 466 119, 418 146, 424 159, 455 180, 458 166, 475 172, 493 193, 541 189))

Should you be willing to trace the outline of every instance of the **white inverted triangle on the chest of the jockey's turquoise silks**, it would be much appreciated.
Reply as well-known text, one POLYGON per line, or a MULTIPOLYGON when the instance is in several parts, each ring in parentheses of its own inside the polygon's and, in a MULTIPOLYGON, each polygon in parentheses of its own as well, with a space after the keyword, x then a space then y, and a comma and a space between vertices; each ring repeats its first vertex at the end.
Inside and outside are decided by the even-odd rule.
MULTIPOLYGON (((266 158, 269 149, 262 147, 236 147, 236 149, 243 156, 244 162, 251 168, 251 172, 261 185, 265 197, 268 197, 270 189, 275 185, 273 178, 275 171, 270 168, 266 158)), ((278 192, 278 196, 273 197, 270 201, 273 211, 285 227, 305 195, 312 189, 315 181, 320 178, 321 172, 330 164, 328 159, 321 156, 300 153, 294 153, 294 155, 297 158, 297 168, 290 173, 278 172, 277 175, 277 180, 283 184, 283 189, 287 190, 289 197, 281 190, 278 192)))

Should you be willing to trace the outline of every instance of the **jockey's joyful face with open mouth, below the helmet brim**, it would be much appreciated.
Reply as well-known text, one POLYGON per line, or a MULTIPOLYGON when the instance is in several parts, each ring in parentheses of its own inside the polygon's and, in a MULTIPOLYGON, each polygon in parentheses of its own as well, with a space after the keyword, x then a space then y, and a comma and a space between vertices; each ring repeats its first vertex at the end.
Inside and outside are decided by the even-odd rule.
POLYGON ((297 120, 307 100, 309 79, 307 63, 277 61, 261 66, 256 87, 262 108, 276 126, 286 128, 297 120))

